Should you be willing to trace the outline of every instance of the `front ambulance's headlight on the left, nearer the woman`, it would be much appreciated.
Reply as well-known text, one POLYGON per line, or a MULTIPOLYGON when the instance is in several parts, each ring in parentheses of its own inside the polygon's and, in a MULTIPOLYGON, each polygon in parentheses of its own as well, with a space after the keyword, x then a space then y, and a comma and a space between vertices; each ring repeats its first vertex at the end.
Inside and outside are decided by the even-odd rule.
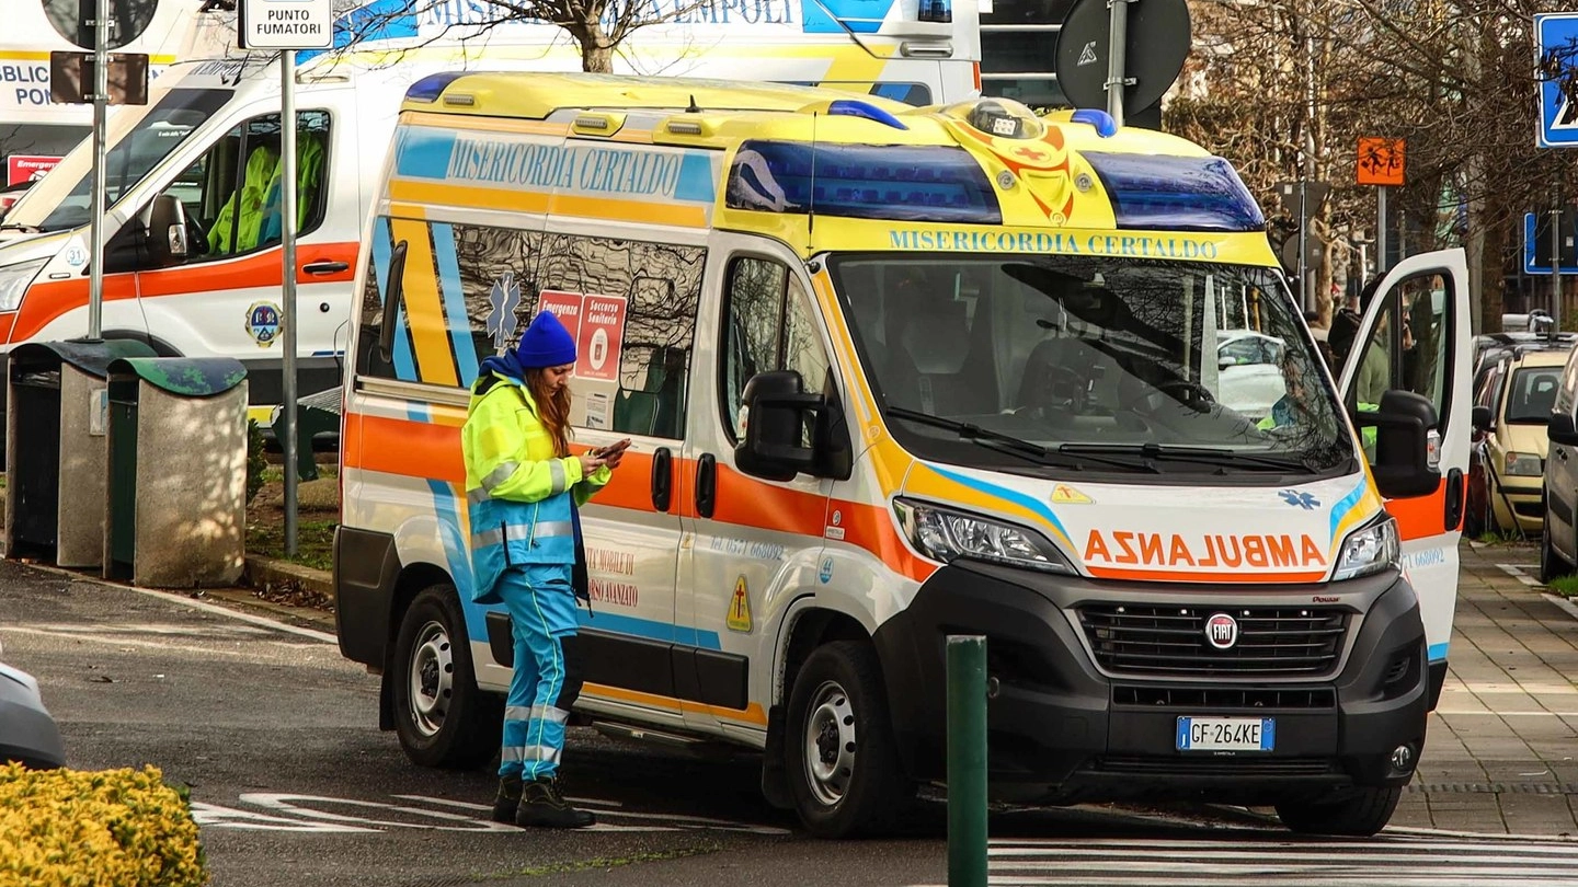
POLYGON ((1041 533, 911 499, 896 499, 893 511, 909 543, 923 556, 952 562, 955 557, 1029 567, 1048 573, 1073 573, 1068 559, 1041 533))

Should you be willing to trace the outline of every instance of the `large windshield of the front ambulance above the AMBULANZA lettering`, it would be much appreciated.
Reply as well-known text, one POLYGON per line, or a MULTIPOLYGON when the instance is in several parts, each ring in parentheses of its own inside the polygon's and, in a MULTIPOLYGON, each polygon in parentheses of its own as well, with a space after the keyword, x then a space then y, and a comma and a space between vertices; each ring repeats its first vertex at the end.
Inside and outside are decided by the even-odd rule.
POLYGON ((830 262, 887 425, 955 464, 1329 473, 1354 459, 1264 268, 1111 257, 830 262))

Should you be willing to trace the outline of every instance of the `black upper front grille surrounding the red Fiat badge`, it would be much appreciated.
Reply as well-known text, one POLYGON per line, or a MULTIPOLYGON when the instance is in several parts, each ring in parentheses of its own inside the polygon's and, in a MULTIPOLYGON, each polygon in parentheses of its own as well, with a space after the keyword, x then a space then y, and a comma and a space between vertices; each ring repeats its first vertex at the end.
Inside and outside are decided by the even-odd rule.
POLYGON ((1174 604, 1087 604, 1079 625, 1097 663, 1112 674, 1278 677, 1335 669, 1348 611, 1294 606, 1198 608, 1174 604), (1218 650, 1206 622, 1228 614, 1237 641, 1218 650))

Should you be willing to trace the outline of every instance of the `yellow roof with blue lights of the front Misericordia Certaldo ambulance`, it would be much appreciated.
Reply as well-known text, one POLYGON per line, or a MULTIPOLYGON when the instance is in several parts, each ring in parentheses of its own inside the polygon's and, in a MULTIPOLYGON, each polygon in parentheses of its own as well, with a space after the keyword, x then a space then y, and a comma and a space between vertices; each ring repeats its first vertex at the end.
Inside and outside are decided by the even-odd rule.
MULTIPOLYGON (((466 71, 418 80, 402 110, 407 125, 473 134, 557 133, 625 148, 645 142, 723 152, 710 193, 723 197, 715 221, 724 227, 759 227, 740 213, 770 213, 969 226, 977 234, 982 226, 1209 232, 1229 235, 1237 245, 1231 253, 1253 254, 1245 260, 1272 262, 1266 218, 1228 161, 1176 136, 1116 126, 1100 110, 1037 117, 996 98, 911 107, 813 87, 466 71)), ((887 237, 896 243, 904 235, 887 237)), ((969 248, 975 240, 953 234, 947 246, 926 237, 914 243, 969 248)), ((1157 241, 1135 254, 1226 257, 1215 248, 1177 253, 1196 248, 1157 241)))

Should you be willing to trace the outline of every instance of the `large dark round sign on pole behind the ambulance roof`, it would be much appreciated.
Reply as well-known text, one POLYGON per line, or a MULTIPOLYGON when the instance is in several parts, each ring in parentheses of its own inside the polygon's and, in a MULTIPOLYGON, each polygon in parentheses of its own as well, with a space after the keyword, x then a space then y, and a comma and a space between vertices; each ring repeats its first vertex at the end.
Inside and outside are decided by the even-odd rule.
MULTIPOLYGON (((1106 109, 1106 60, 1112 35, 1108 0, 1079 0, 1057 32, 1057 85, 1075 107, 1106 109)), ((1188 57, 1188 3, 1135 0, 1124 41, 1125 114, 1149 107, 1168 92, 1188 57)))

